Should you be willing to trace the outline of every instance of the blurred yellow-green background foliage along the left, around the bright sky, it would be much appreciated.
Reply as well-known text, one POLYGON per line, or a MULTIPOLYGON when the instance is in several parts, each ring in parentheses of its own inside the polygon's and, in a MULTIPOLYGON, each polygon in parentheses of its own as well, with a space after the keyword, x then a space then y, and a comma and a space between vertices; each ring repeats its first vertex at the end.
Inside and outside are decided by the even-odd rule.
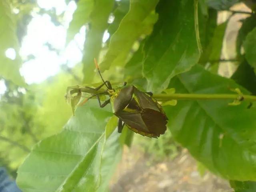
MULTIPOLYGON (((16 40, 17 48, 21 46, 22 39, 27 35, 27 26, 33 18, 33 12, 38 15, 49 15, 51 22, 56 26, 63 20, 63 14, 56 15, 54 8, 50 10, 40 8, 34 0, 4 0, 1 1, 0 7, 2 8, 0 14, 3 16, 0 20, 2 26, 0 38, 3 42, 1 54, 13 47, 13 44, 7 40, 16 40), (13 23, 10 22, 10 18, 13 19, 13 23), (3 46, 5 44, 6 46, 3 46)), ((49 49, 52 47, 50 44, 47 46, 49 49)), ((58 52, 57 49, 53 50, 58 52)), ((79 63, 72 69, 62 64, 59 72, 54 76, 46 77, 47 79, 39 84, 25 85, 23 78, 17 72, 22 62, 34 58, 34 55, 29 55, 22 60, 11 60, 5 55, 1 56, 0 156, 2 160, 0 164, 6 166, 14 177, 16 177, 16 169, 32 146, 43 138, 59 132, 70 118, 72 112, 64 98, 66 88, 81 83, 80 79, 82 79, 79 63), (12 65, 5 66, 6 60, 13 62, 15 68, 12 65)))

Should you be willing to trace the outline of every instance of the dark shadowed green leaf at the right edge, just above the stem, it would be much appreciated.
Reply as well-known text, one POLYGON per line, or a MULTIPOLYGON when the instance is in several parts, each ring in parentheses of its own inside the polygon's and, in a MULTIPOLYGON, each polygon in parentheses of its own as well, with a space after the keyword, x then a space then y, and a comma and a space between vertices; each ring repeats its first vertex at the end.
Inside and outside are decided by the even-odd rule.
POLYGON ((231 78, 252 94, 256 95, 256 75, 252 66, 250 66, 246 60, 238 66, 231 78))

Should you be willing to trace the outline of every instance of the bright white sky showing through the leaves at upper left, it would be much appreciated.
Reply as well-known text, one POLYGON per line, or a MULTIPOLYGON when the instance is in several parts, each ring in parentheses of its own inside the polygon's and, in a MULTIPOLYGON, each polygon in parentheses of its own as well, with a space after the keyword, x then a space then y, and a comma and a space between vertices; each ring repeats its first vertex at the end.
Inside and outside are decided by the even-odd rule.
MULTIPOLYGON (((40 83, 49 76, 55 75, 62 64, 73 67, 80 62, 85 40, 85 26, 82 26, 74 40, 66 46, 66 32, 72 20, 72 14, 76 10, 74 1, 68 5, 66 5, 65 0, 37 0, 37 2, 38 6, 46 10, 56 8, 57 15, 64 12, 64 23, 55 26, 48 14, 40 15, 36 11, 31 13, 33 18, 27 26, 27 34, 22 40, 19 53, 22 60, 26 60, 30 55, 35 56, 34 59, 24 62, 20 68, 20 73, 28 84, 40 83), (57 54, 57 52, 49 50, 46 46, 47 42, 60 53, 57 54)), ((16 9, 14 12, 18 13, 19 10, 16 9)), ((106 42, 108 37, 109 34, 105 32, 103 42, 106 42)), ((15 50, 9 48, 6 50, 6 56, 15 59, 15 50)), ((0 81, 0 94, 4 93, 5 90, 4 82, 0 81)))

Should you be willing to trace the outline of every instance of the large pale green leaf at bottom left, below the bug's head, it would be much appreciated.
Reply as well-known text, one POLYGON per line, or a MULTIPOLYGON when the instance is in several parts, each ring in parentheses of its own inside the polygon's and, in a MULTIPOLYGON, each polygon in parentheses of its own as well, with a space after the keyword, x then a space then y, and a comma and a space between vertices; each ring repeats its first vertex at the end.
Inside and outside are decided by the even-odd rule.
MULTIPOLYGON (((91 192, 104 188, 101 184, 108 178, 102 177, 106 176, 106 169, 113 167, 106 162, 109 156, 113 161, 120 156, 120 147, 115 143, 118 137, 114 133, 113 138, 112 135, 108 138, 110 142, 106 142, 109 148, 106 150, 111 154, 103 150, 104 129, 110 116, 110 108, 99 108, 96 100, 78 107, 62 132, 34 147, 18 169, 18 186, 26 192, 91 192), (112 144, 115 149, 111 148, 112 144)), ((116 123, 112 121, 107 126, 116 126, 116 123)))

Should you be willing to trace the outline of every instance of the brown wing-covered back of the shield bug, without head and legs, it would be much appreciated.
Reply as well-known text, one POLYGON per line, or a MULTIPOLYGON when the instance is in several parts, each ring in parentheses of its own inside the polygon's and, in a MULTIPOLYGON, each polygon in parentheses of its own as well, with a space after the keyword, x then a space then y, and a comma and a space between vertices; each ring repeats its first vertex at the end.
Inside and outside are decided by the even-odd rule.
MULTIPOLYGON (((134 86, 132 87, 133 94, 130 102, 127 103, 126 100, 126 106, 122 110, 115 112, 115 115, 128 128, 143 136, 157 138, 164 134, 168 118, 160 104, 151 96, 141 92, 134 86)), ((131 88, 128 90, 131 90, 131 88)))

